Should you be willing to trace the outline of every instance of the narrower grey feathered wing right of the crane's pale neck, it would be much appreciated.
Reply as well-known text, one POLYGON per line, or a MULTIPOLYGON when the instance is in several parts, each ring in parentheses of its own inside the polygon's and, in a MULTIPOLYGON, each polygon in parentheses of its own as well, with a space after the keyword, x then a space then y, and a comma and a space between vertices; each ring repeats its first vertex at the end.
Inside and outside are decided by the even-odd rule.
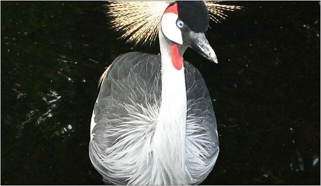
POLYGON ((219 151, 216 118, 200 72, 184 62, 187 93, 186 166, 190 183, 201 183, 213 168, 219 151))

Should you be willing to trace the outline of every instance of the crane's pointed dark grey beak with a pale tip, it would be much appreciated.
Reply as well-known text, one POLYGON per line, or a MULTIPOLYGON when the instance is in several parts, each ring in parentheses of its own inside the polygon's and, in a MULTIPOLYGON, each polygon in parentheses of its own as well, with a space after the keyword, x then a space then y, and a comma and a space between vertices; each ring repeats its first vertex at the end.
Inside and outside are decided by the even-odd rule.
POLYGON ((190 32, 191 47, 202 56, 217 63, 217 57, 213 48, 209 45, 204 33, 190 32))

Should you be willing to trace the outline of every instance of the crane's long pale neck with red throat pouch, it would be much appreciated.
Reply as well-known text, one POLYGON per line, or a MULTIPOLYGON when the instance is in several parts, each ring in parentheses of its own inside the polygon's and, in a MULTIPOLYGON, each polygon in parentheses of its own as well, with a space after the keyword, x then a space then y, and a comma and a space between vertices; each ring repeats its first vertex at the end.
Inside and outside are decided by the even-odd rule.
POLYGON ((184 184, 186 87, 182 53, 177 45, 167 40, 159 30, 161 53, 161 103, 155 128, 156 150, 163 154, 163 163, 169 180, 163 184, 184 184), (179 175, 180 174, 180 175, 179 175), (173 176, 173 177, 172 177, 173 176), (176 181, 180 182, 176 182, 176 181))

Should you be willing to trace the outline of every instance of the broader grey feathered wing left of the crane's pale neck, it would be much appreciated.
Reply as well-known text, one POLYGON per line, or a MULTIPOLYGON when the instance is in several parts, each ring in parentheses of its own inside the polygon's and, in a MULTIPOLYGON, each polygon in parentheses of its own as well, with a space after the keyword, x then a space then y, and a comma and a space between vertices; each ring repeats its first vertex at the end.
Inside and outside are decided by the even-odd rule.
POLYGON ((131 158, 148 158, 136 149, 148 151, 137 146, 138 137, 144 132, 141 140, 151 136, 149 128, 157 119, 160 61, 159 55, 125 53, 112 62, 101 84, 92 114, 89 156, 105 182, 126 184, 138 161, 131 158))

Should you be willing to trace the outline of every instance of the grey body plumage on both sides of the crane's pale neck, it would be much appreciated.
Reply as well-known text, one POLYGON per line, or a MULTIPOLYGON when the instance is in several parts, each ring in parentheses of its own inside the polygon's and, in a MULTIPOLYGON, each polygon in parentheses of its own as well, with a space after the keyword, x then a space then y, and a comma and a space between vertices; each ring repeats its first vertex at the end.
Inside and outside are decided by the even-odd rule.
MULTIPOLYGON (((101 85, 94 104, 96 125, 89 156, 105 182, 153 184, 148 182, 153 154, 145 151, 144 145, 152 143, 160 106, 160 64, 159 55, 125 53, 112 62, 101 85), (128 143, 122 144, 123 141, 128 143)), ((209 174, 218 155, 216 119, 200 72, 187 61, 184 72, 187 95, 184 183, 198 184, 209 174)), ((160 183, 180 183, 166 180, 168 177, 164 175, 160 183)))

